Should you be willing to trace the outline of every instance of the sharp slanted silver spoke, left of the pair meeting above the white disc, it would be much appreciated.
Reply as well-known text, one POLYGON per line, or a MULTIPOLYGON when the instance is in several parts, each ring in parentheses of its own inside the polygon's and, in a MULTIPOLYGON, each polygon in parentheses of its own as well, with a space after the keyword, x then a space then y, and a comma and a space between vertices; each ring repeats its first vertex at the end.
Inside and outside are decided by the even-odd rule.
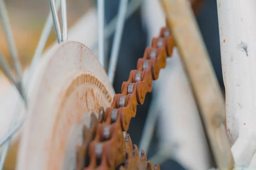
POLYGON ((60 22, 58 20, 58 12, 57 12, 57 9, 56 9, 55 0, 49 0, 49 4, 50 4, 51 12, 52 12, 52 20, 53 20, 53 23, 54 23, 54 29, 55 29, 57 41, 58 41, 58 43, 61 43, 61 41, 62 41, 62 39, 61 39, 61 26, 60 26, 60 22))

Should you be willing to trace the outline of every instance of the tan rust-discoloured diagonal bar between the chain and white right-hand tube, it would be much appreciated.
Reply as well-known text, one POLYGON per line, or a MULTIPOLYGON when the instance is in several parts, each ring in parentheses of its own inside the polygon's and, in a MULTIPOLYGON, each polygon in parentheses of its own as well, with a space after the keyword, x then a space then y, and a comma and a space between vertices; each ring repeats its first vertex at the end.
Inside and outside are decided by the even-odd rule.
POLYGON ((224 127, 224 100, 190 4, 187 0, 161 2, 167 26, 191 80, 217 166, 223 170, 231 169, 234 160, 224 127))

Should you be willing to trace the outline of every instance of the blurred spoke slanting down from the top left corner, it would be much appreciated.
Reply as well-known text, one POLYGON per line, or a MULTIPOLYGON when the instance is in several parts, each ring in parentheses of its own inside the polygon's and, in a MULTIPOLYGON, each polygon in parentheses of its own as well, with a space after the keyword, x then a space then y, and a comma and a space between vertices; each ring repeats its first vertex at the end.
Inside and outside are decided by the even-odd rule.
MULTIPOLYGON (((8 45, 10 48, 12 63, 14 65, 15 71, 17 73, 17 80, 16 80, 17 83, 16 84, 22 85, 22 68, 21 68, 20 60, 18 58, 18 52, 17 52, 17 48, 15 46, 14 38, 12 35, 12 29, 11 29, 11 25, 9 22, 9 18, 7 16, 6 6, 5 6, 5 3, 3 2, 3 0, 0 0, 0 17, 2 19, 3 28, 4 28, 6 38, 8 41, 8 45)), ((22 94, 22 96, 24 96, 23 88, 21 86, 19 87, 19 90, 20 90, 20 94, 22 94)), ((25 98, 23 98, 23 99, 25 100, 25 98)))

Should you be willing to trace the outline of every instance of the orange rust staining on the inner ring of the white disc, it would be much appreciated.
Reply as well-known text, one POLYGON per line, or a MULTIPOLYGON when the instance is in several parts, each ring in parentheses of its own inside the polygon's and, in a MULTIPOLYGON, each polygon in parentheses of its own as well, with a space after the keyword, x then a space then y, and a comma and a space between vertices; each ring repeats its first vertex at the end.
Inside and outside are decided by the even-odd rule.
MULTIPOLYGON (((61 95, 62 97, 60 97, 61 100, 61 104, 59 105, 58 108, 58 113, 56 115, 56 119, 55 119, 55 123, 53 124, 55 127, 54 129, 56 129, 53 133, 52 133, 52 137, 49 138, 49 141, 51 141, 50 143, 52 143, 52 145, 50 147, 47 147, 47 149, 49 150, 49 154, 54 155, 54 159, 49 160, 49 167, 47 169, 61 169, 61 160, 63 160, 64 156, 65 156, 65 152, 66 152, 66 147, 67 147, 67 142, 68 140, 66 139, 67 134, 70 133, 71 130, 71 126, 72 124, 80 124, 81 122, 79 122, 79 120, 81 120, 81 117, 84 116, 84 102, 80 101, 80 106, 79 106, 79 102, 75 103, 77 105, 76 107, 76 111, 77 113, 74 113, 74 110, 70 110, 70 109, 64 109, 66 107, 66 105, 73 105, 73 102, 70 103, 69 99, 75 99, 75 100, 79 100, 80 95, 86 96, 85 100, 91 100, 91 89, 90 88, 86 88, 86 90, 84 91, 84 94, 80 94, 76 91, 78 86, 81 85, 90 85, 95 87, 94 89, 94 93, 102 93, 105 95, 105 92, 107 91, 107 89, 105 88, 105 86, 102 84, 101 81, 96 81, 97 77, 95 77, 92 74, 81 74, 78 77, 76 77, 75 79, 72 80, 72 82, 70 82, 70 85, 67 86, 67 90, 65 91, 65 93, 63 95, 61 95), (97 91, 98 92, 97 92, 97 91), (88 93, 87 93, 88 92, 88 93), (68 104, 67 104, 68 103, 68 104), (81 104, 83 103, 83 104, 81 104), (63 115, 66 115, 63 116, 63 115), (65 119, 63 121, 62 124, 60 124, 58 121, 60 121, 61 119, 65 119), (56 137, 57 136, 57 137, 56 137), (57 141, 56 141, 57 140, 57 141), (55 144, 55 145, 54 145, 55 144)), ((94 94, 94 96, 95 96, 94 94)), ((108 93, 104 96, 104 98, 106 100, 102 100, 102 102, 100 102, 100 105, 104 105, 105 103, 111 103, 112 98, 111 95, 108 93)), ((81 99, 80 99, 81 100, 81 99)), ((94 103, 90 102, 90 103, 94 103)), ((92 105, 90 104, 88 105, 88 103, 86 103, 87 108, 90 107, 90 109, 92 110, 96 110, 98 111, 99 108, 97 108, 97 105, 92 105)), ((92 130, 92 133, 95 133, 96 129, 90 128, 90 130, 92 130)), ((88 135, 89 133, 85 133, 86 135, 88 135)), ((93 136, 94 137, 94 136, 93 136)))

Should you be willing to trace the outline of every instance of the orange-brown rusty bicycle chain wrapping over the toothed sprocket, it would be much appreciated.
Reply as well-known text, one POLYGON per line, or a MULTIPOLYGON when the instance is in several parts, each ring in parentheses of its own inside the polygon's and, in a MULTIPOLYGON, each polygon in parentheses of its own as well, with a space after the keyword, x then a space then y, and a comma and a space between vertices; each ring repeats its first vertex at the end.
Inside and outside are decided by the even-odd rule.
MULTIPOLYGON (((203 0, 190 0, 197 13, 203 0)), ((84 127, 83 144, 77 147, 77 170, 160 170, 160 166, 147 161, 145 151, 132 144, 129 134, 124 138, 137 105, 142 105, 145 95, 152 90, 152 81, 158 79, 160 69, 166 67, 167 56, 172 56, 174 40, 168 28, 161 28, 151 47, 145 48, 138 59, 137 70, 130 72, 122 83, 121 94, 116 94, 110 108, 99 109, 99 118, 91 115, 90 127, 84 127)))

